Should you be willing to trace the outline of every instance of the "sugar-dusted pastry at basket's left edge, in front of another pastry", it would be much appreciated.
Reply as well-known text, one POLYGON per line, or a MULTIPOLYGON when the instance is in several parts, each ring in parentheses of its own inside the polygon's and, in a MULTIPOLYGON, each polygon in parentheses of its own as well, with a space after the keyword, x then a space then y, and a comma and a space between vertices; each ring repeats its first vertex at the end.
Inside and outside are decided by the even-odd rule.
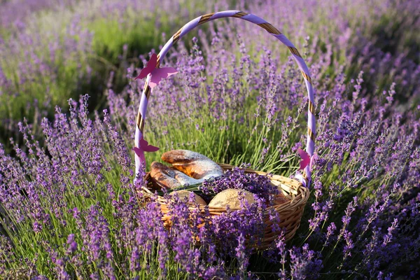
POLYGON ((151 178, 154 183, 157 183, 158 186, 163 188, 176 188, 184 185, 195 185, 202 182, 191 178, 178 170, 162 165, 160 162, 152 162, 151 178))

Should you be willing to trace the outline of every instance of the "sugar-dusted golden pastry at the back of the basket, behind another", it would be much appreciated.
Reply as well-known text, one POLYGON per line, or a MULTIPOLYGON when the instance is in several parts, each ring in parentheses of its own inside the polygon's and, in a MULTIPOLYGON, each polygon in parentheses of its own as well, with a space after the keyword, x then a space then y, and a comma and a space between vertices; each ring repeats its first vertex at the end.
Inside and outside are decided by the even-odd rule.
POLYGON ((201 179, 201 182, 223 175, 222 167, 216 162, 193 151, 172 150, 163 153, 162 160, 194 179, 201 179))

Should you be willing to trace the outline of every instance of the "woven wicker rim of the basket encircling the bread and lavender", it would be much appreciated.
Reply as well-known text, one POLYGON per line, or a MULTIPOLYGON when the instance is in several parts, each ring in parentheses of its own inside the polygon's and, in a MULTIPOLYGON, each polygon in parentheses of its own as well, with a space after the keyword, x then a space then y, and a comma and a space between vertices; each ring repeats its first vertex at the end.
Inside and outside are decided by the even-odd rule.
MULTIPOLYGON (((220 167, 223 168, 223 170, 230 170, 233 169, 234 165, 228 165, 225 163, 218 163, 220 167)), ((288 197, 287 202, 283 202, 281 204, 274 204, 264 209, 264 212, 267 212, 271 209, 275 209, 276 211, 287 211, 288 209, 295 209, 296 207, 306 204, 307 200, 309 199, 309 190, 308 188, 305 188, 303 184, 300 181, 297 181, 295 179, 291 179, 285 176, 276 175, 276 174, 269 174, 267 172, 258 171, 255 169, 245 168, 244 171, 246 173, 253 173, 253 174, 259 174, 262 176, 270 176, 271 181, 279 182, 279 184, 274 184, 277 186, 279 190, 282 191, 286 197, 288 197), (287 190, 283 187, 286 187, 287 190), (286 193, 286 194, 285 194, 286 193), (291 195, 290 195, 291 193, 291 195)), ((150 179, 150 172, 147 172, 144 176, 145 179, 150 179)), ((141 187, 141 190, 139 190, 140 193, 143 193, 144 195, 147 195, 148 197, 152 196, 158 196, 158 202, 160 204, 160 207, 167 208, 167 205, 171 202, 174 202, 174 200, 168 200, 165 197, 162 197, 161 195, 157 195, 155 193, 152 193, 151 190, 148 188, 145 188, 144 186, 141 187)), ((213 214, 216 214, 219 212, 220 214, 226 213, 227 208, 226 207, 210 207, 209 205, 197 205, 196 204, 188 204, 188 208, 190 210, 196 210, 200 209, 201 211, 204 211, 206 209, 209 209, 210 213, 214 212, 213 214), (216 213, 215 213, 216 212, 216 213)), ((230 211, 237 211, 240 209, 230 209, 230 211)))

